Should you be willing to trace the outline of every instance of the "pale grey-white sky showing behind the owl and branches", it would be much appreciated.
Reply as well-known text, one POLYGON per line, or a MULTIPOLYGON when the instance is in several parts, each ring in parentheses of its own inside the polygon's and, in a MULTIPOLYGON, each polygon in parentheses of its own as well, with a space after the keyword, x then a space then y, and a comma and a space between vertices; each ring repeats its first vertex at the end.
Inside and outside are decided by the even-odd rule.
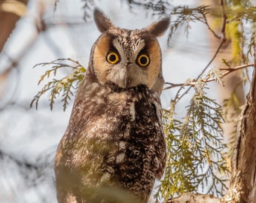
MULTIPOLYGON (((182 5, 187 2, 191 6, 197 1, 170 1, 172 5, 182 5)), ((130 11, 126 3, 120 0, 97 0, 96 6, 107 14, 116 26, 126 29, 142 29, 157 17, 151 17, 143 8, 130 11)), ((29 2, 29 11, 17 23, 11 38, 9 38, 4 53, 0 55, 0 72, 17 61, 5 84, 4 94, 0 98, 0 149, 5 153, 41 165, 50 165, 45 169, 45 177, 41 183, 24 186, 23 171, 17 170, 8 160, 3 160, 0 166, 0 201, 2 203, 19 202, 56 202, 53 174, 53 157, 57 144, 71 114, 72 101, 65 112, 59 100, 50 111, 50 102, 45 95, 39 101, 38 110, 35 106, 29 108, 33 96, 41 90, 38 80, 47 67, 35 65, 50 62, 54 59, 71 58, 87 67, 90 48, 99 37, 93 20, 84 22, 83 2, 80 0, 59 0, 56 11, 53 12, 53 2, 50 0, 29 2), (43 20, 47 29, 38 32, 35 23, 44 12, 43 20), (68 22, 68 24, 67 24, 68 22), (10 105, 15 102, 15 105, 10 105)), ((168 35, 159 38, 163 53, 163 75, 172 83, 184 83, 188 77, 197 77, 211 57, 211 48, 206 26, 202 23, 191 24, 189 37, 179 30, 167 46, 168 35)), ((60 71, 58 77, 69 74, 60 71)), ((43 83, 44 84, 44 83, 43 83)), ((176 89, 164 91, 161 99, 163 108, 169 107, 170 99, 176 89)), ((181 111, 184 111, 181 110, 181 111)))

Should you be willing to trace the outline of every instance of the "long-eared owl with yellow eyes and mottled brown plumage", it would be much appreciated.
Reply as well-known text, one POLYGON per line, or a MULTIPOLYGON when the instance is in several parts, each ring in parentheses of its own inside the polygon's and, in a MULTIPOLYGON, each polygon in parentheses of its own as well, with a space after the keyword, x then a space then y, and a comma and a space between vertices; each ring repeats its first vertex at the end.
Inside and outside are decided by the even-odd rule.
POLYGON ((56 152, 57 199, 148 202, 166 162, 157 37, 169 18, 134 30, 114 26, 99 9, 94 20, 102 35, 56 152))

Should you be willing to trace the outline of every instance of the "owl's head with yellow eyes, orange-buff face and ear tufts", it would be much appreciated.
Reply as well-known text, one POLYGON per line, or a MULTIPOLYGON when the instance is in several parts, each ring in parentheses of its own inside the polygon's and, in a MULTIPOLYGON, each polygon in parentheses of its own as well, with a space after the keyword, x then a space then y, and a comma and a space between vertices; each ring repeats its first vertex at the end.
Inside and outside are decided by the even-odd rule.
POLYGON ((141 84, 157 92, 163 88, 162 59, 157 37, 164 34, 169 18, 145 29, 120 29, 96 9, 96 26, 102 35, 93 45, 89 74, 99 83, 126 89, 141 84))

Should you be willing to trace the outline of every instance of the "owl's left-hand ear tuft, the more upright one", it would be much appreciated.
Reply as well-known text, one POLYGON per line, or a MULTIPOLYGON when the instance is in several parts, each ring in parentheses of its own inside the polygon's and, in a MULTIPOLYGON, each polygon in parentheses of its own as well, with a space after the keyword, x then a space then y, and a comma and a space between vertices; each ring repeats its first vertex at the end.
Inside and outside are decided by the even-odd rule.
POLYGON ((113 24, 109 20, 108 17, 105 16, 105 14, 99 10, 99 8, 96 8, 94 10, 94 21, 96 23, 97 28, 99 29, 99 32, 105 32, 108 29, 111 29, 113 27, 113 24))

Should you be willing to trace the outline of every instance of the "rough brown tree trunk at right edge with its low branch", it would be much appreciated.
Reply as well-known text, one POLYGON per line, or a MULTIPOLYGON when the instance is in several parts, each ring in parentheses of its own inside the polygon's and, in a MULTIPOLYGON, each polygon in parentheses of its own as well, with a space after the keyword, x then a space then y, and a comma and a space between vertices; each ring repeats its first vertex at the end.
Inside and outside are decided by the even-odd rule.
POLYGON ((231 159, 230 186, 222 198, 185 193, 166 203, 256 202, 256 37, 254 38, 254 72, 251 87, 237 129, 236 147, 231 159))

